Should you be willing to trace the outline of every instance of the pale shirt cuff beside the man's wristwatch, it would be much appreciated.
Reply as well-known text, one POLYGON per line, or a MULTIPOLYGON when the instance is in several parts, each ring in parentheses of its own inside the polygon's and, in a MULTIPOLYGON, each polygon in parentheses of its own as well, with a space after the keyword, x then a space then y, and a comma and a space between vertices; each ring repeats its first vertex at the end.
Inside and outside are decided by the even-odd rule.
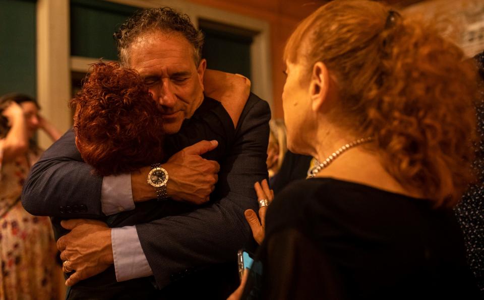
POLYGON ((130 173, 102 178, 101 209, 105 215, 135 209, 130 173))

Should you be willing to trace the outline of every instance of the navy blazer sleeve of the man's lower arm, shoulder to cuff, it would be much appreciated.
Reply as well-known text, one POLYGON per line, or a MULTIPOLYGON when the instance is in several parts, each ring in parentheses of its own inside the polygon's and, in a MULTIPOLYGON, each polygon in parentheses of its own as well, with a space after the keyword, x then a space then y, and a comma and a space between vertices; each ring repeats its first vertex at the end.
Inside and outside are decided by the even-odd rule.
POLYGON ((251 241, 244 211, 257 209, 254 183, 267 178, 270 109, 251 95, 241 114, 230 153, 221 165, 219 201, 180 215, 137 224, 136 229, 159 287, 172 274, 190 274, 213 263, 234 260, 251 241), (225 191, 223 191, 225 189, 225 191))

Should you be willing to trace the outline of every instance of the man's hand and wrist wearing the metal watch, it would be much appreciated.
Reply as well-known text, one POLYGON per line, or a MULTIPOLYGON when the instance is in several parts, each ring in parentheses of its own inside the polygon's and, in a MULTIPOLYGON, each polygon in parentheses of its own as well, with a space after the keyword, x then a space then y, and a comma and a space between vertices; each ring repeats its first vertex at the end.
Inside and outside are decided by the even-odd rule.
MULTIPOLYGON (((202 140, 174 154, 161 165, 168 172, 166 191, 173 200, 202 204, 210 200, 210 193, 218 181, 220 166, 201 157, 215 149, 216 140, 202 140)), ((154 188, 146 183, 150 168, 131 174, 131 188, 135 202, 156 198, 154 188)))

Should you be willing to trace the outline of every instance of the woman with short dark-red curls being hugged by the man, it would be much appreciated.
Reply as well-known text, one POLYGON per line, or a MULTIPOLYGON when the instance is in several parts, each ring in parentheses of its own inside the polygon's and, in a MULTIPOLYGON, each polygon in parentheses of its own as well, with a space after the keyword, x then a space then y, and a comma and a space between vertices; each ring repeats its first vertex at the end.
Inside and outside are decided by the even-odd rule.
POLYGON ((220 159, 233 131, 221 116, 231 118, 236 125, 250 82, 207 70, 205 84, 206 94, 220 99, 222 105, 204 101, 178 134, 165 137, 159 104, 139 73, 115 62, 93 64, 82 90, 70 102, 75 109, 76 146, 83 160, 100 176, 131 173, 163 161, 181 145, 204 139, 218 141, 217 148, 204 158, 220 159))

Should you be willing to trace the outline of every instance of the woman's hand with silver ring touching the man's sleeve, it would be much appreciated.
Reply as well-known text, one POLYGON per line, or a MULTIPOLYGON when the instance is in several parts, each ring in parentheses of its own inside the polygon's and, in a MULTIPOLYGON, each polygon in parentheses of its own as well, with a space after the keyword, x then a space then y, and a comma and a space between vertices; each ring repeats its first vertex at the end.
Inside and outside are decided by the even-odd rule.
POLYGON ((254 236, 254 240, 260 245, 262 240, 264 240, 264 228, 266 226, 266 211, 267 205, 261 206, 261 200, 267 200, 268 204, 274 200, 274 191, 269 188, 269 184, 267 180, 264 179, 261 183, 256 182, 254 184, 254 189, 257 193, 257 200, 259 201, 259 218, 256 215, 256 212, 252 209, 248 209, 244 212, 246 216, 246 220, 249 222, 251 226, 252 235, 254 236))

